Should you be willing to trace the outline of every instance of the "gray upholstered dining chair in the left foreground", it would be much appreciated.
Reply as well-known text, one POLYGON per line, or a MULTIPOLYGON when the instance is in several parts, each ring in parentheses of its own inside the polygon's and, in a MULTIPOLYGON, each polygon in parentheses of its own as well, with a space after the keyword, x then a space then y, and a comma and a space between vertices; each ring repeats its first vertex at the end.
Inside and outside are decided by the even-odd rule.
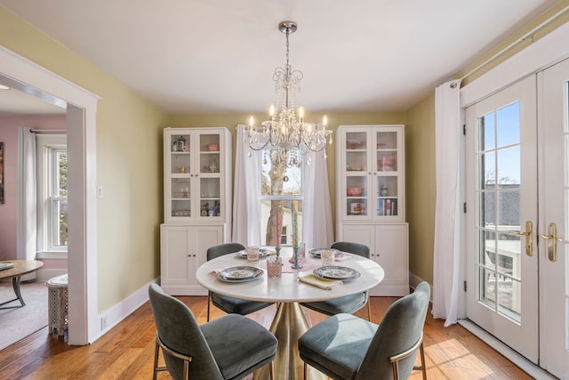
POLYGON ((198 326, 194 314, 161 287, 148 288, 156 322, 154 376, 168 370, 176 380, 234 380, 269 365, 274 379, 276 337, 252 319, 228 314, 198 326), (158 366, 160 350, 166 366, 158 366))

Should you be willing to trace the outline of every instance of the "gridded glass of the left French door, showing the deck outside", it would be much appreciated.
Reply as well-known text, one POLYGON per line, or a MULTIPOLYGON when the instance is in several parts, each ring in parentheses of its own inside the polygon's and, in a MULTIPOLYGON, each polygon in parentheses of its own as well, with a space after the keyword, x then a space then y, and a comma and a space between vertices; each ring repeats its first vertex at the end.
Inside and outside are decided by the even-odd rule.
POLYGON ((477 118, 478 301, 521 320, 519 103, 477 118))

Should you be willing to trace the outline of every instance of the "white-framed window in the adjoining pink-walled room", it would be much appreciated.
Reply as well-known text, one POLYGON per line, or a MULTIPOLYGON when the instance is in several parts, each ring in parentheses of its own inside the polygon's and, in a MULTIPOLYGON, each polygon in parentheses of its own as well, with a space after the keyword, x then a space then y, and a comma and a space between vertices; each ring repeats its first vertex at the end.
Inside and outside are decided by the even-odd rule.
POLYGON ((65 135, 37 135, 38 255, 68 250, 68 152, 65 135))

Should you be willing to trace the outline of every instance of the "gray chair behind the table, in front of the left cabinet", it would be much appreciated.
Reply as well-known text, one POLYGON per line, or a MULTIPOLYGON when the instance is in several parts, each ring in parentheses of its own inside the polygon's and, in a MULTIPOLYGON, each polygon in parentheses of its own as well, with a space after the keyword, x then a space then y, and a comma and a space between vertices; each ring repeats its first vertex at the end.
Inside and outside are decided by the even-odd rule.
MULTIPOLYGON (((224 243, 212 246, 207 249, 207 261, 220 257, 222 255, 234 254, 244 250, 242 244, 239 243, 224 243)), ((207 320, 210 320, 210 305, 227 312, 228 314, 235 313, 241 315, 251 314, 255 311, 260 311, 273 303, 262 303, 257 301, 248 301, 241 298, 230 297, 228 295, 219 295, 207 292, 207 320)))

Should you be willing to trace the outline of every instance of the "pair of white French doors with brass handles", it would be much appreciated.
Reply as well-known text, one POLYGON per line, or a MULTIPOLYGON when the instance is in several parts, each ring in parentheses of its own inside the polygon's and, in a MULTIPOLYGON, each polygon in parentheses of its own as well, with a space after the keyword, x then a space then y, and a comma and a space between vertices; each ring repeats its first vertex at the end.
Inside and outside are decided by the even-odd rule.
POLYGON ((569 60, 466 121, 467 317, 569 379, 569 60))

